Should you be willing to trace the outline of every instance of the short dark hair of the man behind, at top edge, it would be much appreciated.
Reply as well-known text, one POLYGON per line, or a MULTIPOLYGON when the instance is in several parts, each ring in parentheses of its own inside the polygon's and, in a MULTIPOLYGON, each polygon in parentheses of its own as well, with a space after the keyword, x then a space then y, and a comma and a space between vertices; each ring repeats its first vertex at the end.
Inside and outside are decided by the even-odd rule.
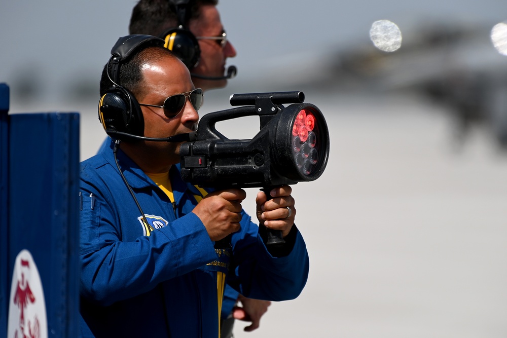
MULTIPOLYGON (((185 26, 191 20, 199 18, 200 7, 203 5, 218 5, 218 0, 190 0, 185 26)), ((159 36, 169 28, 176 28, 178 18, 176 8, 169 0, 139 0, 132 10, 130 17, 130 34, 149 34, 159 36)))

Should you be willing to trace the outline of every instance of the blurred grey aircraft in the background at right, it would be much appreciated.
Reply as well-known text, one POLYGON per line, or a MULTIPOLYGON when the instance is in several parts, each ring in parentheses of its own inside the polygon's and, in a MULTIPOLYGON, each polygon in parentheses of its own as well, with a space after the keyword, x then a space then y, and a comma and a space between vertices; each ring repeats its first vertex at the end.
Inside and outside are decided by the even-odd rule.
POLYGON ((328 71, 312 85, 322 90, 421 95, 453 113, 460 144, 474 126, 480 126, 507 152, 507 57, 494 48, 491 27, 417 27, 404 32, 396 51, 384 52, 365 41, 338 50, 329 60, 328 71))

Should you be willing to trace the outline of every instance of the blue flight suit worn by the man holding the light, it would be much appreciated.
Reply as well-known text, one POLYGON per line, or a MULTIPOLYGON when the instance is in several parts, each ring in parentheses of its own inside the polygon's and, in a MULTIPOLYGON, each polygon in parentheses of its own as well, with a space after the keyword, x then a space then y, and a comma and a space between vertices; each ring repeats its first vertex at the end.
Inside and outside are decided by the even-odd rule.
POLYGON ((232 248, 215 249, 192 213, 200 193, 183 182, 179 165, 169 172, 173 204, 119 149, 119 165, 146 224, 112 144, 81 163, 82 337, 217 338, 224 286, 218 283, 225 274, 246 297, 284 301, 301 293, 309 258, 296 226, 282 249, 268 251, 265 228, 242 211, 232 248))

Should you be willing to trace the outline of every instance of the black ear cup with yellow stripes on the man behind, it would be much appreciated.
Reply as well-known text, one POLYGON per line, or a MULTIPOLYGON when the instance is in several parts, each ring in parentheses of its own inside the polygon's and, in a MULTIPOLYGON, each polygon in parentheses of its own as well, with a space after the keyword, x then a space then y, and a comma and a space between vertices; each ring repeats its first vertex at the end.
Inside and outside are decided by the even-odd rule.
POLYGON ((199 43, 188 29, 173 28, 163 32, 160 37, 164 39, 164 47, 172 51, 189 69, 199 63, 201 49, 199 43))

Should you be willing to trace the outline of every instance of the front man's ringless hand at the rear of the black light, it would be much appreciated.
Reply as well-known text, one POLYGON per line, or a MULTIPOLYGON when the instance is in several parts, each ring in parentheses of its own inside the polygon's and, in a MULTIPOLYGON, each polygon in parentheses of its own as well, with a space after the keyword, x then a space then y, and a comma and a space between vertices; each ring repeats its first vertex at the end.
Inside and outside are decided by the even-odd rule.
POLYGON ((209 238, 218 241, 240 230, 242 189, 216 191, 206 195, 192 210, 206 227, 209 238))

